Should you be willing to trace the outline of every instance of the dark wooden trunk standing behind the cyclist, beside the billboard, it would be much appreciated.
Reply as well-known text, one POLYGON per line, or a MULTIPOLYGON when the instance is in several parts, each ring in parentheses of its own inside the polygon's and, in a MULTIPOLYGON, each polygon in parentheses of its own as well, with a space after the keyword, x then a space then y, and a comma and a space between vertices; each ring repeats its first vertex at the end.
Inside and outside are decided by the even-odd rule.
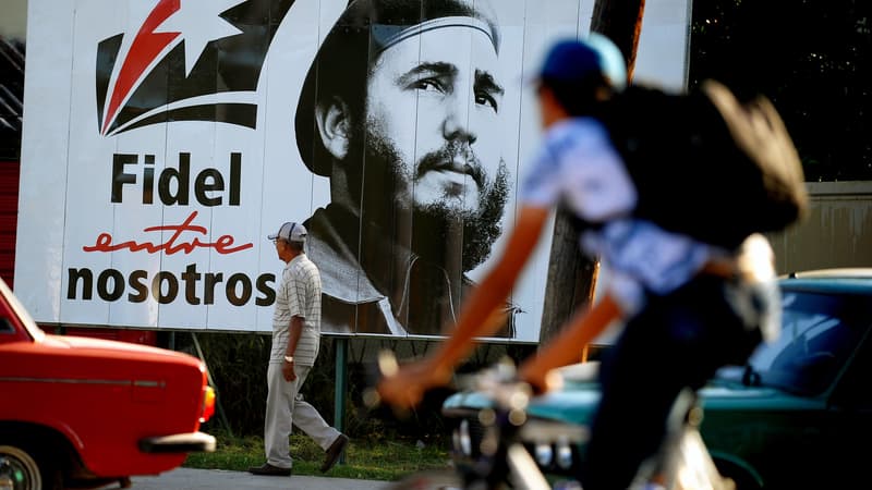
MULTIPOLYGON (((596 0, 591 20, 591 30, 615 42, 627 60, 627 78, 632 78, 635 51, 642 32, 645 0, 596 0)), ((558 207, 554 222, 548 282, 542 313, 540 344, 554 336, 572 313, 593 301, 598 261, 581 254, 578 231, 571 215, 558 207)), ((582 346, 579 346, 581 353, 582 346)))

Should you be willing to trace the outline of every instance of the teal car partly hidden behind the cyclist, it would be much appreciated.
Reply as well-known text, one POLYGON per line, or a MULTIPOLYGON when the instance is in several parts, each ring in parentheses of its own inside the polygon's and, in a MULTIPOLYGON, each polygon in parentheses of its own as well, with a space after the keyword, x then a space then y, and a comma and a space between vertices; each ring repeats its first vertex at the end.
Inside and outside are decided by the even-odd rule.
MULTIPOLYGON (((746 366, 719 370, 699 393, 703 441, 739 490, 872 487, 862 483, 872 464, 872 269, 800 272, 779 282, 777 341, 746 366)), ((560 391, 526 407, 519 437, 552 481, 578 470, 598 401, 596 364, 569 367, 560 391)), ((489 406, 475 392, 443 406, 461 477, 481 460, 480 414, 489 406)))

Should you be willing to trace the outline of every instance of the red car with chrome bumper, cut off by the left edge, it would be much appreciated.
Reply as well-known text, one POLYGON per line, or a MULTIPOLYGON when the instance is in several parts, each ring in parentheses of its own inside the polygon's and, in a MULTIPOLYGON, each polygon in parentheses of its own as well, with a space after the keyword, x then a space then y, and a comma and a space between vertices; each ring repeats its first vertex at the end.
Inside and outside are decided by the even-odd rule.
POLYGON ((0 489, 129 487, 214 451, 214 409, 196 357, 47 334, 0 279, 0 489))

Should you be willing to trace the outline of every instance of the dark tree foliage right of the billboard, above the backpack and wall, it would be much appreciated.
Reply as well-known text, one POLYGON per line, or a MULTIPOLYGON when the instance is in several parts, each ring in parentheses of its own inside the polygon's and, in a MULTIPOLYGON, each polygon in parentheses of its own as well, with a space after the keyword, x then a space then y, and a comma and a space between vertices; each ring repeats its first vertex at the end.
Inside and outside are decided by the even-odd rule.
POLYGON ((690 79, 770 97, 807 181, 872 180, 868 0, 693 2, 690 79))

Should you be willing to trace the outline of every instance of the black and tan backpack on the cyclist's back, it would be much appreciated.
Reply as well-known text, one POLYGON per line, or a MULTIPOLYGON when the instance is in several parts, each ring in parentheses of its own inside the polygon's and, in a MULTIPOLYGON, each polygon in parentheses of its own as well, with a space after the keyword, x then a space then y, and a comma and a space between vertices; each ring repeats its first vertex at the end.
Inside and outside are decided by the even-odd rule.
POLYGON ((706 81, 688 94, 629 86, 596 115, 635 184, 634 216, 737 248, 808 212, 802 166, 768 99, 706 81))

